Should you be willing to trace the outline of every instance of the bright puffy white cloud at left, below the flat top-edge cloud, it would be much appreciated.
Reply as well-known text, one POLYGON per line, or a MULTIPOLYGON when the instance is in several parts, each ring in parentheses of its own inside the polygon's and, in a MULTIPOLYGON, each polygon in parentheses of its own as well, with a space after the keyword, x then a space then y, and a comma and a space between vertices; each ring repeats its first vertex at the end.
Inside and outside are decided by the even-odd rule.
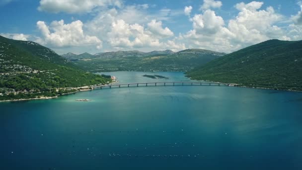
POLYGON ((37 27, 43 36, 37 41, 44 45, 52 47, 95 45, 97 48, 102 47, 102 41, 97 37, 84 34, 83 23, 80 20, 69 24, 65 24, 64 20, 53 21, 50 26, 46 25, 44 21, 38 21, 37 27))

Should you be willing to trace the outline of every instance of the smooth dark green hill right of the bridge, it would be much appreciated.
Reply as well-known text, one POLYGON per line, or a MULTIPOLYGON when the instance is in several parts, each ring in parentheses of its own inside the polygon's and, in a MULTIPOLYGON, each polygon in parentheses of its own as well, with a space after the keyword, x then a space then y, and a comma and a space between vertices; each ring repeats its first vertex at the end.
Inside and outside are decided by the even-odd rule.
POLYGON ((187 72, 197 80, 302 90, 302 41, 265 41, 187 72))

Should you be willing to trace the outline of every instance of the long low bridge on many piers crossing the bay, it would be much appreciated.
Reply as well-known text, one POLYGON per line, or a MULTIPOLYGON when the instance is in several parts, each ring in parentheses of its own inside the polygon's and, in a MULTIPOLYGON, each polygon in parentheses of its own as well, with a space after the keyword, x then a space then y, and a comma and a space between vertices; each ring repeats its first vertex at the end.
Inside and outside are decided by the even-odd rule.
POLYGON ((151 82, 151 83, 125 83, 125 84, 110 84, 110 85, 94 85, 94 86, 90 86, 92 88, 103 88, 103 87, 130 87, 130 86, 148 86, 148 85, 152 85, 152 86, 157 86, 157 85, 161 85, 161 86, 166 86, 166 85, 170 85, 170 86, 174 86, 174 85, 215 85, 215 86, 234 86, 236 84, 227 84, 227 83, 203 83, 203 82, 151 82))

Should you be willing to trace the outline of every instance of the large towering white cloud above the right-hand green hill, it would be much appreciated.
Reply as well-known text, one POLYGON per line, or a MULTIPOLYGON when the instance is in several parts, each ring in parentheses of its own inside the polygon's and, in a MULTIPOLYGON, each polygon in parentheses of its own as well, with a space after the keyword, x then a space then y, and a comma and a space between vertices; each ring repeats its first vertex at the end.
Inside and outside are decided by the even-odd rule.
POLYGON ((221 16, 211 9, 194 15, 193 29, 183 35, 189 48, 205 48, 221 52, 231 52, 268 39, 289 40, 283 29, 276 26, 283 16, 273 7, 260 10, 263 2, 237 3, 237 16, 225 24, 221 16))

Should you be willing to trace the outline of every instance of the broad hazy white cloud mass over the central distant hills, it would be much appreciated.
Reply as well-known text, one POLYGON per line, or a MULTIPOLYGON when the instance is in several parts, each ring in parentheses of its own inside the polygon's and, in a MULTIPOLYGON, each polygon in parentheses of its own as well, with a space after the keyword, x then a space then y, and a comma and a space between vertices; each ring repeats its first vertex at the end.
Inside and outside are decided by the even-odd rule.
MULTIPOLYGON (((108 48, 158 50, 167 47, 166 38, 174 36, 174 33, 168 27, 163 27, 162 21, 157 18, 163 19, 170 14, 171 9, 163 8, 158 14, 149 15, 141 5, 130 5, 120 10, 112 8, 100 11, 84 27, 102 39, 108 48)), ((183 46, 179 44, 173 44, 173 49, 182 49, 183 46)))

